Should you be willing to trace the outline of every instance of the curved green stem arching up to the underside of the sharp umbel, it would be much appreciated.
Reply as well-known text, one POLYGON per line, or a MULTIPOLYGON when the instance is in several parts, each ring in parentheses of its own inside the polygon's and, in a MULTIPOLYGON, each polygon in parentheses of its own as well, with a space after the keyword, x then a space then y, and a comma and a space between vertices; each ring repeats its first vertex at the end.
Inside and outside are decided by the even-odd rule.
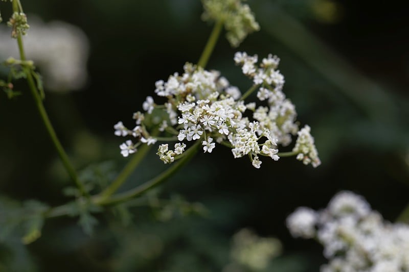
POLYGON ((140 186, 131 189, 129 191, 119 193, 116 195, 113 195, 109 198, 99 198, 97 197, 95 199, 95 204, 97 205, 112 205, 112 204, 118 204, 121 202, 125 202, 128 200, 133 199, 134 197, 137 197, 147 190, 161 184, 168 178, 170 178, 172 175, 177 172, 185 163, 187 163, 197 152, 198 146, 201 145, 201 141, 197 141, 193 146, 191 146, 187 151, 185 151, 185 157, 181 158, 179 161, 173 163, 171 167, 169 167, 167 170, 162 172, 160 175, 156 176, 155 178, 141 184, 140 186))

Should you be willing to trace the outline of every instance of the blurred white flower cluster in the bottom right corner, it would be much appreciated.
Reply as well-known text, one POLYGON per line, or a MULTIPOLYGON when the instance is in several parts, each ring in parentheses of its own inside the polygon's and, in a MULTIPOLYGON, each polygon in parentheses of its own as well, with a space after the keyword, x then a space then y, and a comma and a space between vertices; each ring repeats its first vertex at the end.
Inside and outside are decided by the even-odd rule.
POLYGON ((409 271, 409 226, 392 224, 362 196, 336 194, 321 211, 298 208, 287 218, 294 237, 316 237, 330 261, 322 272, 409 271))

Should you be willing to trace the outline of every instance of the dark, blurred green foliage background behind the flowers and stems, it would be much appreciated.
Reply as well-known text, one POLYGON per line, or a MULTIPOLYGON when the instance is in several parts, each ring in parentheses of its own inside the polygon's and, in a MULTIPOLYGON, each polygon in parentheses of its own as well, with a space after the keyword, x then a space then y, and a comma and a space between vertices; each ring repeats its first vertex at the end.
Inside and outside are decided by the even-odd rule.
MULTIPOLYGON (((55 218, 45 222, 39 240, 23 245, 18 233, 0 225, 0 271, 317 271, 325 262, 322 248, 292 239, 285 227, 296 207, 325 207, 335 192, 348 189, 364 195, 385 218, 398 216, 409 202, 409 23, 401 4, 248 4, 261 31, 238 50, 281 58, 284 92, 302 124, 311 126, 322 165, 313 169, 283 158, 256 170, 219 146, 127 207, 94 214, 98 224, 90 236, 78 219, 55 218), (261 237, 277 237, 282 245, 261 237), (255 254, 256 263, 264 258, 263 267, 237 258, 248 241, 244 249, 252 253, 244 256, 255 254), (266 241, 272 250, 258 245, 266 241)), ((74 24, 89 39, 86 86, 47 92, 45 105, 82 177, 104 186, 128 160, 119 153, 122 139, 112 126, 118 120, 130 125, 156 80, 198 60, 211 26, 200 20, 200 2, 193 0, 22 0, 22 5, 29 16, 74 24)), ((0 9, 8 18, 9 3, 0 9)), ((250 82, 234 65, 235 52, 220 38, 208 68, 246 90, 250 82)), ((0 99, 1 216, 30 199, 49 206, 70 200, 62 193, 69 179, 25 82, 16 88, 21 96, 0 99)), ((121 189, 164 168, 152 151, 121 189)))

